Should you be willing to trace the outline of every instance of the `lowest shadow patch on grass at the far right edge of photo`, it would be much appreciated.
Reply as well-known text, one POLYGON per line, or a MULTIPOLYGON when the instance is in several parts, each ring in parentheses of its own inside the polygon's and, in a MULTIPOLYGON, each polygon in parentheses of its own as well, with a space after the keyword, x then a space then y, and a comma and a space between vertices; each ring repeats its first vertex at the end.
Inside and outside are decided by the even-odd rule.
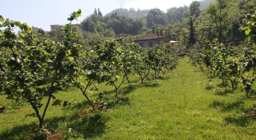
POLYGON ((248 124, 250 124, 250 122, 252 120, 255 120, 256 117, 255 116, 239 116, 239 117, 233 117, 233 116, 229 116, 224 118, 224 120, 230 124, 236 124, 238 126, 247 126, 248 124))

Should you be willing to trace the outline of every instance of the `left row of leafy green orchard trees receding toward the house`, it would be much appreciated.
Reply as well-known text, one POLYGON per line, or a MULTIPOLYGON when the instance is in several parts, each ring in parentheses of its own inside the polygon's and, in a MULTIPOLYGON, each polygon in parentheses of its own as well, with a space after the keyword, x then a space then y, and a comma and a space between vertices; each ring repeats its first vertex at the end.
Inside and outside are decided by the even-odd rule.
POLYGON ((30 116, 38 118, 40 128, 51 99, 52 106, 70 104, 54 96, 60 90, 79 88, 95 110, 88 93, 97 90, 96 84, 114 86, 118 98, 118 89, 131 75, 138 74, 143 84, 151 71, 157 77, 178 64, 177 52, 169 44, 141 48, 122 43, 122 38, 89 47, 75 44, 71 23, 79 16, 81 10, 73 12, 70 24, 61 29, 64 42, 39 38, 26 23, 0 16, 0 92, 8 99, 28 102, 34 109, 30 116), (18 35, 13 30, 16 27, 21 30, 18 35), (43 98, 47 98, 46 104, 43 98))

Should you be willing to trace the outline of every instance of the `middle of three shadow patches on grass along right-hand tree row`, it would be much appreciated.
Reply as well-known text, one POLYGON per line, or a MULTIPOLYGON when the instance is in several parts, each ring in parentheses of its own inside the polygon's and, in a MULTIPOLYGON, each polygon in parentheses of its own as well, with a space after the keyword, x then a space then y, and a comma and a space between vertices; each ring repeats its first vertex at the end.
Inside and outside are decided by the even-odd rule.
POLYGON ((230 111, 230 110, 238 109, 238 108, 239 108, 239 110, 243 110, 243 108, 242 108, 243 104, 244 104, 244 101, 242 101, 242 100, 237 100, 236 102, 231 102, 231 103, 213 101, 212 103, 210 103, 209 107, 219 109, 222 112, 226 112, 226 111, 230 111))

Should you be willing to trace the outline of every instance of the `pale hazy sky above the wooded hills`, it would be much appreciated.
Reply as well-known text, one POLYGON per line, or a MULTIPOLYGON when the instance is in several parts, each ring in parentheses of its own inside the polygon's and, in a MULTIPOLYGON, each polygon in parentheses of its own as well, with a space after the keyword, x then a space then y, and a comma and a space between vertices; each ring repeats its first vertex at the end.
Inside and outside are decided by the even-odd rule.
POLYGON ((171 7, 188 6, 193 0, 0 0, 0 15, 49 31, 52 24, 66 24, 68 15, 78 8, 82 17, 76 23, 92 14, 94 8, 100 8, 103 15, 120 8, 120 1, 127 9, 159 8, 166 12, 171 7))

